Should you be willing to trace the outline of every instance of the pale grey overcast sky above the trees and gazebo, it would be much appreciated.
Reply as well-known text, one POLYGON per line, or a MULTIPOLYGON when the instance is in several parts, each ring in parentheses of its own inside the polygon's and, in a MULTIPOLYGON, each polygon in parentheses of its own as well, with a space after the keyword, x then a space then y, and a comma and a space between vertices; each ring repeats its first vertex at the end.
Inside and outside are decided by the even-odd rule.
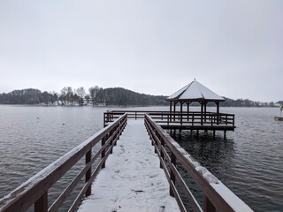
POLYGON ((282 0, 0 0, 0 93, 125 87, 283 100, 282 0))

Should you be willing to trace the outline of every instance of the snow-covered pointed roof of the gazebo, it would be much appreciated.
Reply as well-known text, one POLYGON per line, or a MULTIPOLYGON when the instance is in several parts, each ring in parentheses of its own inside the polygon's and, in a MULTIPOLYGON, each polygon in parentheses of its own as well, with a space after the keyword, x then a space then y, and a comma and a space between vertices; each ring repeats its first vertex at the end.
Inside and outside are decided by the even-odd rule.
POLYGON ((189 83, 186 87, 181 88, 176 93, 167 97, 166 101, 223 102, 225 101, 225 99, 220 95, 215 94, 213 91, 203 86, 198 81, 194 80, 191 83, 189 83))

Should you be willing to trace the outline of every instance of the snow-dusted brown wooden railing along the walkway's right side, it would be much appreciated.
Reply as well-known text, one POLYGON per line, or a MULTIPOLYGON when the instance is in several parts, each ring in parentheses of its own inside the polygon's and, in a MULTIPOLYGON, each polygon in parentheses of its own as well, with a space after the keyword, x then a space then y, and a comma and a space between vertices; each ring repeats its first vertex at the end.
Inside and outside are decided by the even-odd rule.
POLYGON ((206 170, 197 163, 195 159, 181 148, 168 133, 164 132, 161 126, 157 125, 149 115, 145 116, 145 125, 150 140, 152 140, 155 151, 159 156, 160 168, 164 169, 164 173, 168 179, 170 194, 175 197, 181 211, 187 211, 187 208, 185 208, 184 201, 182 201, 180 197, 180 189, 194 211, 252 211, 249 206, 224 186, 218 178, 214 177, 209 170, 206 170), (203 208, 187 187, 184 176, 183 178, 180 176, 177 164, 181 166, 183 170, 186 170, 187 177, 191 178, 203 192, 203 208), (179 189, 177 189, 177 186, 179 189))

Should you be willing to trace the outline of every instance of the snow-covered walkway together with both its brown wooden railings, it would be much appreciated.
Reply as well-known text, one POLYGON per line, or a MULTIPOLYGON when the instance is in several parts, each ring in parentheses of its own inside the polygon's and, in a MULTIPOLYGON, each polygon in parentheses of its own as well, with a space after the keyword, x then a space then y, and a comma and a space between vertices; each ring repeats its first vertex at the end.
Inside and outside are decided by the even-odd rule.
MULTIPOLYGON (((135 123, 128 121, 132 115, 123 113, 113 117, 103 130, 4 196, 0 211, 27 211, 31 207, 36 212, 57 211, 82 180, 83 186, 68 211, 77 211, 79 207, 82 212, 105 207, 111 207, 113 212, 137 208, 138 211, 187 211, 187 208, 252 211, 181 148, 154 118, 143 114, 143 119, 135 123), (50 202, 50 188, 74 165, 79 165, 81 159, 85 163, 80 171, 57 199, 50 202), (203 193, 203 201, 195 196, 187 178, 203 193), (133 203, 134 199, 139 201, 133 203)), ((134 116, 137 118, 138 113, 134 116)))

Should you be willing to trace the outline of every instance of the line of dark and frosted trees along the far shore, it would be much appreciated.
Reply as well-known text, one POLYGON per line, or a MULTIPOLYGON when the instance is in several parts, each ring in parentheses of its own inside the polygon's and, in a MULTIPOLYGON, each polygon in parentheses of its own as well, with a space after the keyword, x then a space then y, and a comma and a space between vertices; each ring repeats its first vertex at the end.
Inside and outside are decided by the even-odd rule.
MULTIPOLYGON (((41 92, 39 89, 28 88, 0 94, 1 104, 45 104, 45 105, 93 105, 93 106, 150 106, 169 105, 164 95, 144 95, 122 87, 63 87, 59 93, 41 92)), ((222 107, 274 107, 279 102, 255 102, 249 99, 229 99, 220 102, 222 107)), ((209 104, 210 105, 210 104, 209 104)), ((211 106, 214 106, 211 102, 211 106)))

